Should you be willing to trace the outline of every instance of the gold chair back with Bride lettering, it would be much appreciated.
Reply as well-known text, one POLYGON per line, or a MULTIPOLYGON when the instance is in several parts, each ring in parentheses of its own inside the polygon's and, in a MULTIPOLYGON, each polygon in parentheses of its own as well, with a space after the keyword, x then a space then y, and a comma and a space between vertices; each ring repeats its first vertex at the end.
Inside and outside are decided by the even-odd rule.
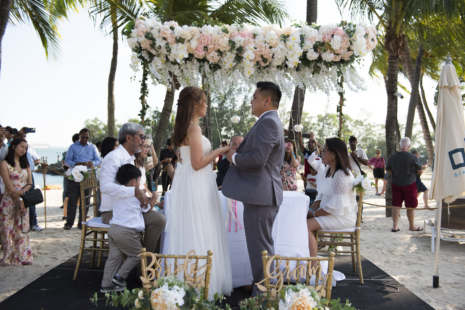
POLYGON ((210 276, 212 273, 213 251, 208 251, 207 256, 195 255, 192 250, 187 255, 169 255, 155 254, 146 252, 146 248, 140 249, 142 276, 140 279, 144 284, 143 287, 147 290, 153 287, 153 279, 159 277, 177 276, 179 273, 184 273, 185 283, 190 287, 195 287, 198 291, 204 288, 203 298, 208 299, 208 291, 210 289, 210 276), (147 257, 152 258, 152 261, 147 266, 147 257), (171 264, 167 259, 174 259, 174 269, 171 272, 171 264), (178 264, 178 259, 184 260, 182 264, 178 264), (199 260, 205 259, 206 264, 199 267, 199 260), (203 271, 202 271, 203 270, 203 271))

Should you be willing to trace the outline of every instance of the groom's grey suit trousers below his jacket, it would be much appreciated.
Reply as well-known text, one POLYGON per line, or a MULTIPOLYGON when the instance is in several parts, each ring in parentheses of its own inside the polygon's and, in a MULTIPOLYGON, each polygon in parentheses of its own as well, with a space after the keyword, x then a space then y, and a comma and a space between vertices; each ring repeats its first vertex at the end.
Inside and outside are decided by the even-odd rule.
MULTIPOLYGON (((244 229, 246 231, 247 251, 249 252, 252 276, 255 283, 263 280, 263 264, 261 251, 274 255, 274 243, 271 231, 274 219, 279 211, 276 205, 244 204, 244 229)), ((274 268, 274 267, 272 267, 274 268)), ((253 296, 262 293, 256 285, 253 296)))

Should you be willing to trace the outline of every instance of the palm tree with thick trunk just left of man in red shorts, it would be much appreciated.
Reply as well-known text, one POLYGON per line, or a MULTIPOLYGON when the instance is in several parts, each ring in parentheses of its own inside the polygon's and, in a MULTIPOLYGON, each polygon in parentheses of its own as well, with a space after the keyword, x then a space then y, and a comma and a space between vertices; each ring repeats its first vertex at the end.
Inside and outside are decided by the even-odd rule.
MULTIPOLYGON (((388 65, 386 72, 386 93, 387 93, 387 113, 386 113, 386 153, 391 156, 396 151, 396 123, 397 123, 397 92, 399 58, 405 53, 406 35, 415 21, 425 19, 437 12, 440 15, 452 16, 463 13, 465 6, 456 6, 455 1, 436 0, 336 0, 339 7, 349 6, 352 16, 368 16, 369 20, 375 18, 379 21, 384 33, 384 46, 388 52, 388 65)), ((457 2, 464 2, 463 0, 457 2)), ((418 24, 417 24, 418 25, 418 24)), ((415 98, 415 97, 414 97, 415 98)), ((412 101, 413 111, 417 102, 412 101)), ((409 110, 411 107, 409 106, 409 110)), ((407 118, 407 122, 413 122, 407 118)), ((392 191, 390 176, 388 177, 386 188, 386 206, 392 205, 392 191)), ((390 210, 389 210, 390 211, 390 210)), ((386 216, 390 216, 386 209, 386 216)))

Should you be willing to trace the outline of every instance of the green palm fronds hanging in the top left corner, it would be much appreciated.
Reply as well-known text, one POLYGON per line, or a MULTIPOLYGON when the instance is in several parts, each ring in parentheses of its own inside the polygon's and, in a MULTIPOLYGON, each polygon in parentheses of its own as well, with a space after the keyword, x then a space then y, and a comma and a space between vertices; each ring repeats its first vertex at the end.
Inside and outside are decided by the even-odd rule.
POLYGON ((0 1, 0 68, 1 41, 7 23, 11 25, 31 23, 42 41, 46 58, 59 52, 58 22, 68 18, 69 11, 77 10, 81 0, 1 0, 0 1))

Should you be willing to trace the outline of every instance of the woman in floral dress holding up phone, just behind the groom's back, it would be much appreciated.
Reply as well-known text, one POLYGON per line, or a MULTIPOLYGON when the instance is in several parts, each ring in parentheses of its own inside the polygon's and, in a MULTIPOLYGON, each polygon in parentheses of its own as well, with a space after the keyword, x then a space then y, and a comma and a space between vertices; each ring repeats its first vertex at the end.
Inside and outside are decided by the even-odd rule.
POLYGON ((286 142, 286 153, 284 155, 283 167, 281 168, 281 182, 283 191, 297 191, 296 173, 302 169, 300 165, 300 156, 297 154, 295 142, 288 140, 286 142))

